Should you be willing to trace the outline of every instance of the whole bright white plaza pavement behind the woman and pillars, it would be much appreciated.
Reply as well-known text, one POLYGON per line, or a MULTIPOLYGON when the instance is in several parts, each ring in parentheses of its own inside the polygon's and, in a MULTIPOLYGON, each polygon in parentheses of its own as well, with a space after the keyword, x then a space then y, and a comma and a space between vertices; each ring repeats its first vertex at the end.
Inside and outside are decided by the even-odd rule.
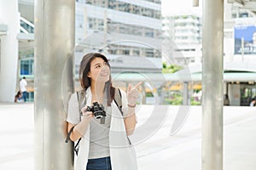
MULTIPOLYGON (((167 106, 164 106, 167 107, 167 106)), ((150 122, 154 105, 137 112, 135 137, 147 122, 149 133, 135 143, 140 170, 201 169, 201 106, 189 107, 181 130, 171 136, 179 106, 169 106, 165 119, 150 122), (152 128, 152 129, 150 129, 152 128), (154 131, 153 131, 154 130, 154 131)), ((159 111, 159 110, 157 110, 159 111)), ((0 104, 0 169, 33 169, 33 104, 0 104)), ((159 111, 159 115, 163 110, 159 111)), ((256 167, 256 108, 224 107, 224 169, 254 170, 256 167)))

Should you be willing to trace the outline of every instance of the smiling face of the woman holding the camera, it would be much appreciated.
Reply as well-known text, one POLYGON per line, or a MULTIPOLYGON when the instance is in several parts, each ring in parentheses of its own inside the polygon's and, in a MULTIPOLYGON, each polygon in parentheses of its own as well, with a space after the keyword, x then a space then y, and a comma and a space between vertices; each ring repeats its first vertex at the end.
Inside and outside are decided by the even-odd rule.
POLYGON ((87 77, 90 77, 92 82, 108 82, 110 70, 104 59, 95 58, 90 63, 90 71, 87 77))

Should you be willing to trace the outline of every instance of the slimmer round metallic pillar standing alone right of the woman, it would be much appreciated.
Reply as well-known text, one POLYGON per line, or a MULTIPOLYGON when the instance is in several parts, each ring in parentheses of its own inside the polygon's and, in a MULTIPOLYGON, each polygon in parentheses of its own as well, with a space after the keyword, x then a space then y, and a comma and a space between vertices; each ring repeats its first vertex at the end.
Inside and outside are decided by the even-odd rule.
POLYGON ((202 16, 202 170, 222 170, 224 0, 204 0, 202 16))

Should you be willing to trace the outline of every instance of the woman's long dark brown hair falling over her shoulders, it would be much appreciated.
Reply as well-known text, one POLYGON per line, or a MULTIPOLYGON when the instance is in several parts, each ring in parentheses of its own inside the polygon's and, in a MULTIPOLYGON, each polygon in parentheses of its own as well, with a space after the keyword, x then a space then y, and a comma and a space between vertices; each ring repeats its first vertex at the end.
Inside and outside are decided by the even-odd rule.
MULTIPOLYGON (((108 67, 110 69, 108 59, 103 54, 99 54, 99 53, 85 54, 80 63, 80 68, 79 68, 79 81, 81 83, 81 87, 85 91, 91 85, 90 77, 87 77, 87 75, 90 71, 90 63, 93 59, 96 59, 96 58, 102 58, 106 62, 106 64, 108 65, 108 67)), ((105 90, 107 92, 108 106, 109 106, 109 105, 111 105, 111 102, 112 102, 113 96, 114 96, 114 88, 112 86, 111 74, 109 74, 108 82, 105 82, 105 90)))

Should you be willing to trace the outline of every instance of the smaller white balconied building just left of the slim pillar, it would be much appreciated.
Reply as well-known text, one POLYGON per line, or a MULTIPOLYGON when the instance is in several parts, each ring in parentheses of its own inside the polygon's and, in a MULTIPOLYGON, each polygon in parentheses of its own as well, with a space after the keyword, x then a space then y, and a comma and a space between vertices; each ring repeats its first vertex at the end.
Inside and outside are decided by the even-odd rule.
POLYGON ((200 16, 172 14, 163 18, 162 26, 163 50, 169 58, 172 58, 178 65, 201 62, 200 16))

